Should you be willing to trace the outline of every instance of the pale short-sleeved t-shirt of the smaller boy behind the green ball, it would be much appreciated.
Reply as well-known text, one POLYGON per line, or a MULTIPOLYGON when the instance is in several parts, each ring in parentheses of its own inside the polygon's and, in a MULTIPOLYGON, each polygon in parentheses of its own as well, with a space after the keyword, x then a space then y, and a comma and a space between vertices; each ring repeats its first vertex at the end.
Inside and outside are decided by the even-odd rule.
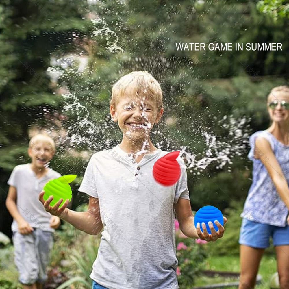
MULTIPOLYGON (((13 169, 7 183, 16 188, 18 212, 31 227, 43 231, 55 231, 49 226, 51 214, 45 211, 38 195, 48 181, 60 176, 60 173, 49 168, 46 175, 38 179, 30 164, 21 164, 13 169)), ((15 220, 13 220, 11 229, 13 232, 18 231, 18 224, 15 220)))

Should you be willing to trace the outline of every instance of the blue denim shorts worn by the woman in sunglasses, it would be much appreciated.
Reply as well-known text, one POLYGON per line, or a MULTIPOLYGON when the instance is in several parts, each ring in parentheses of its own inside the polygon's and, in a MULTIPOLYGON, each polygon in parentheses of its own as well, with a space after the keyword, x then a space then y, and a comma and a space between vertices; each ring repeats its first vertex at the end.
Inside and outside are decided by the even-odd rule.
POLYGON ((243 218, 239 244, 255 248, 267 248, 270 246, 270 236, 273 240, 273 246, 289 245, 289 225, 278 227, 243 218))

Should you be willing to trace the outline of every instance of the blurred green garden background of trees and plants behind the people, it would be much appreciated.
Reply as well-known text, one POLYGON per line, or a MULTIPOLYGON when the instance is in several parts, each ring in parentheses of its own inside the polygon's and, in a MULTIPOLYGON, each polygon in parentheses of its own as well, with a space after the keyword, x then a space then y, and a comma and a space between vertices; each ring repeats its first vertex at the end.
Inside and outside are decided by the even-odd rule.
MULTIPOLYGON (((151 138, 159 148, 182 151, 192 210, 214 205, 229 219, 214 243, 178 232, 180 288, 222 281, 201 270, 239 272, 240 213, 251 184, 248 137, 269 125, 271 88, 288 85, 288 11, 287 2, 268 0, 2 0, 0 232, 8 240, 0 248, 0 288, 21 288, 5 199, 12 169, 29 162, 29 138, 40 130, 53 136, 57 153, 49 166, 77 174, 69 206, 86 210, 88 197, 77 192, 86 164, 122 137, 109 115, 112 85, 135 70, 150 72, 162 87, 164 115, 151 138), (179 42, 278 42, 282 51, 180 51, 179 42)), ((63 222, 54 238, 45 288, 90 288, 100 236, 63 222)), ((271 244, 256 288, 270 288, 275 271, 271 244)))

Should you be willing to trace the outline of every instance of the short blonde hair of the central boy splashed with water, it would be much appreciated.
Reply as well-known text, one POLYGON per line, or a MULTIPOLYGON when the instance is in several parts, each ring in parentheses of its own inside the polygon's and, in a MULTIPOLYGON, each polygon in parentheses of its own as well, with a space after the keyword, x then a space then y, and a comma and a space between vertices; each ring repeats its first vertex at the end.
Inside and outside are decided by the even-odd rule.
POLYGON ((133 71, 121 77, 112 87, 110 105, 115 108, 118 98, 125 95, 145 95, 155 99, 158 110, 163 107, 160 84, 147 71, 133 71))

